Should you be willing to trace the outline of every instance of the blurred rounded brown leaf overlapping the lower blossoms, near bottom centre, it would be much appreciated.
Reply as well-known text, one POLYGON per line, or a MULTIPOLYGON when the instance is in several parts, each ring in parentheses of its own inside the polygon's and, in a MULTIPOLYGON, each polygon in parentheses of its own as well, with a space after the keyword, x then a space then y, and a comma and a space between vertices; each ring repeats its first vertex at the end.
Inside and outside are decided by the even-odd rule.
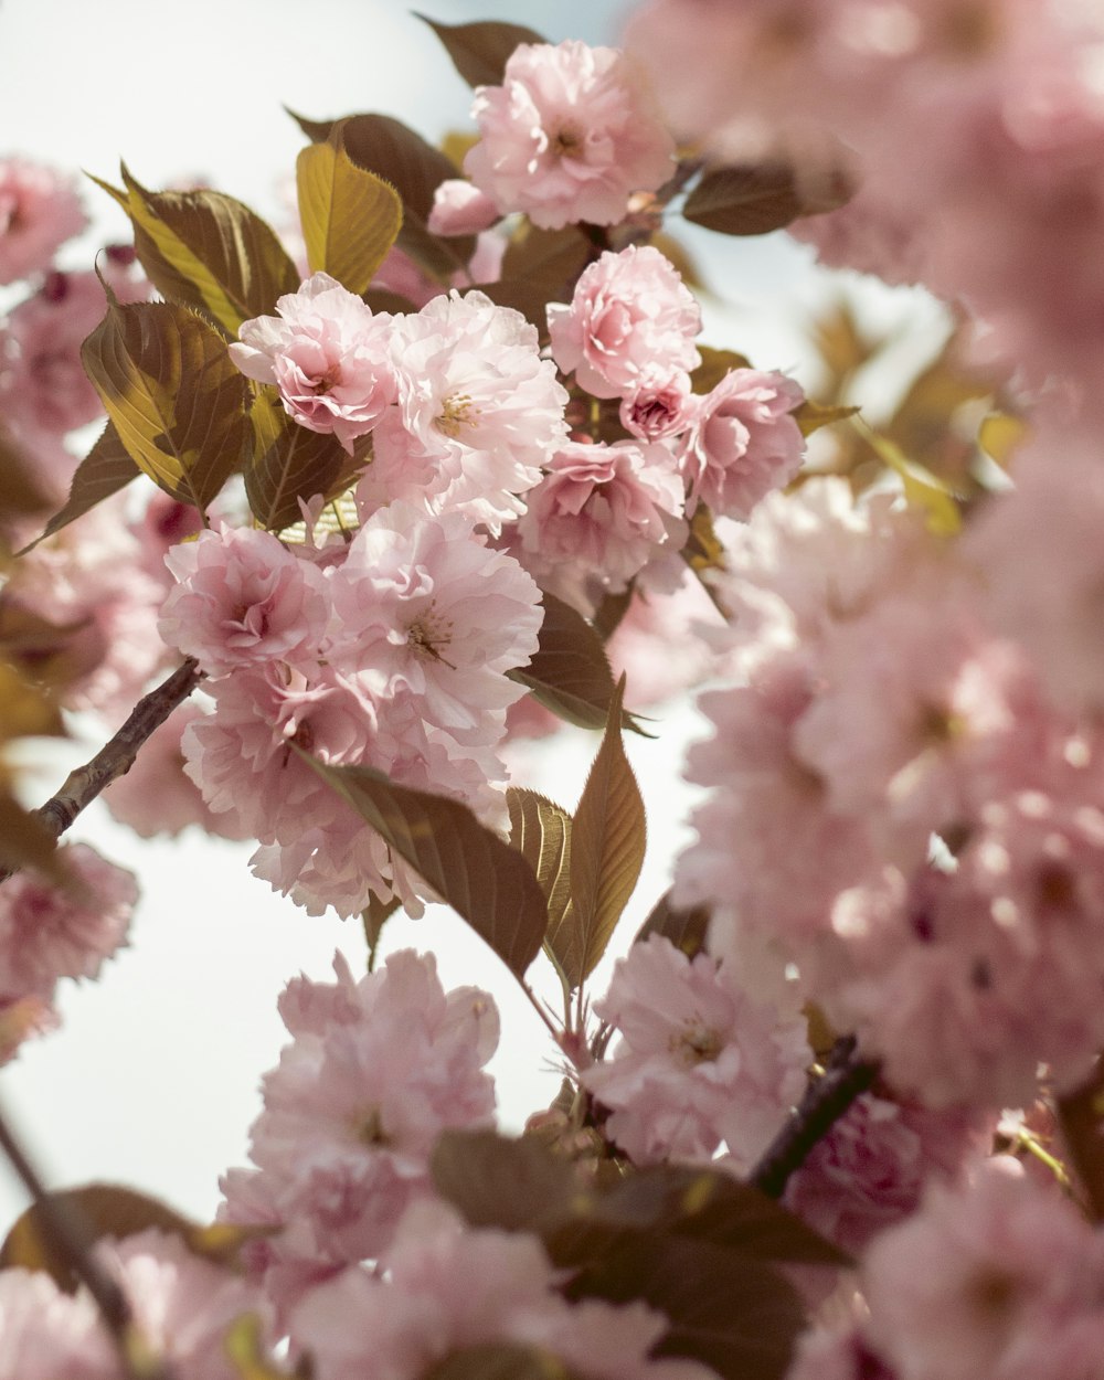
POLYGON ((580 1181, 571 1163, 523 1136, 446 1130, 429 1161, 433 1187, 471 1227, 552 1228, 571 1213, 580 1181))

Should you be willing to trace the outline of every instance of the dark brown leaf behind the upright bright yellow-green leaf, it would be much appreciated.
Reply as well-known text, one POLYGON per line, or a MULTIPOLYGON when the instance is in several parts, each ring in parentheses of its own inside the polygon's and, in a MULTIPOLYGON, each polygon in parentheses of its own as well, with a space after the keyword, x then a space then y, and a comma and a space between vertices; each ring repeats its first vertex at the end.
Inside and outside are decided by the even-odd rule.
MULTIPOLYGON (((312 139, 330 138, 333 120, 304 120, 294 116, 312 139)), ((388 115, 351 115, 339 121, 345 152, 357 167, 385 178, 403 203, 403 225, 397 244, 435 277, 447 280, 475 254, 475 236, 442 239, 429 230, 433 193, 457 175, 451 159, 440 149, 388 115)))

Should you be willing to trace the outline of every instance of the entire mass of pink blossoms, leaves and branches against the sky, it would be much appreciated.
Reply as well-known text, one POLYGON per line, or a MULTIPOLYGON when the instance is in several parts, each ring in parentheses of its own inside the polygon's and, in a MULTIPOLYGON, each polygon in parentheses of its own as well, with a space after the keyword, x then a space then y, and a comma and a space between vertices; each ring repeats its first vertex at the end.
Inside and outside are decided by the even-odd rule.
MULTIPOLYGON (((72 199, 6 170, 0 276, 41 275, 6 327, 6 421, 39 436, 29 362, 68 326, 86 373, 41 415, 108 424, 12 566, 0 651, 86 709, 185 658, 50 828, 110 782, 144 832, 253 839, 273 889, 363 916, 373 960, 444 903, 563 1072, 497 1136, 490 994, 408 949, 294 978, 221 1185, 235 1268, 152 1201, 112 1194, 102 1223, 181 1380, 272 1380, 283 1351, 319 1380, 1096 1365, 1098 1228, 1061 1190, 1081 1174, 1098 1209, 1104 312, 1094 254, 1053 261, 1104 204, 1087 21, 777 8, 654 0, 642 61, 433 23, 475 87, 462 168, 386 116, 297 117, 284 243, 123 167, 99 185, 135 247, 102 282, 51 268, 72 199), (705 345, 679 218, 789 228, 973 330, 959 308, 876 424, 829 425, 885 342, 825 317, 820 403, 705 345), (622 736, 707 678, 697 839, 596 996, 646 845, 622 736), (559 720, 600 733, 571 809, 506 762, 559 720), (1009 1108, 1029 1134, 996 1137, 1009 1108), (845 1265, 850 1311, 810 1326, 845 1265)), ((132 886, 80 850, 83 897, 4 889, 6 1050, 126 931, 132 886)), ((112 1374, 87 1296, 3 1270, 0 1312, 51 1380, 112 1374)))

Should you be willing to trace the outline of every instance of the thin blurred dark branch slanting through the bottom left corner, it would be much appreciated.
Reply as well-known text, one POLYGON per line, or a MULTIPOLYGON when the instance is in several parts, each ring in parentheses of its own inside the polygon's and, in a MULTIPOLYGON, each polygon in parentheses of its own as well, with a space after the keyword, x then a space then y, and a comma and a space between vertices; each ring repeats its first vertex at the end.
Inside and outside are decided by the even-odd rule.
POLYGON ((3 1112, 0 1112, 0 1150, 7 1155, 34 1203, 37 1225, 46 1238, 46 1245, 92 1296, 103 1326, 119 1348, 124 1373, 132 1380, 171 1380, 170 1370, 152 1358, 150 1363, 135 1365, 134 1317, 126 1294, 117 1281, 112 1279, 91 1254, 94 1238, 87 1224, 72 1210, 72 1205, 62 1208, 47 1192, 3 1112))

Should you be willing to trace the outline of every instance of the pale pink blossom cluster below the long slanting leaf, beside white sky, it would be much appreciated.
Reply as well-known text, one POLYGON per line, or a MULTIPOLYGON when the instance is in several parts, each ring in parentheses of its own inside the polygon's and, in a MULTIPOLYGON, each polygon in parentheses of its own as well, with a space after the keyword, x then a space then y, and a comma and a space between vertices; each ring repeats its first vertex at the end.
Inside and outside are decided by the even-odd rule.
POLYGON ((280 999, 293 1042, 264 1079, 254 1169, 224 1179, 222 1217, 279 1228, 253 1248, 287 1303, 335 1268, 386 1252, 407 1206, 432 1192, 429 1155, 446 1127, 484 1126, 498 1043, 493 999, 444 992, 432 956, 393 954, 355 981, 294 980, 280 999))

